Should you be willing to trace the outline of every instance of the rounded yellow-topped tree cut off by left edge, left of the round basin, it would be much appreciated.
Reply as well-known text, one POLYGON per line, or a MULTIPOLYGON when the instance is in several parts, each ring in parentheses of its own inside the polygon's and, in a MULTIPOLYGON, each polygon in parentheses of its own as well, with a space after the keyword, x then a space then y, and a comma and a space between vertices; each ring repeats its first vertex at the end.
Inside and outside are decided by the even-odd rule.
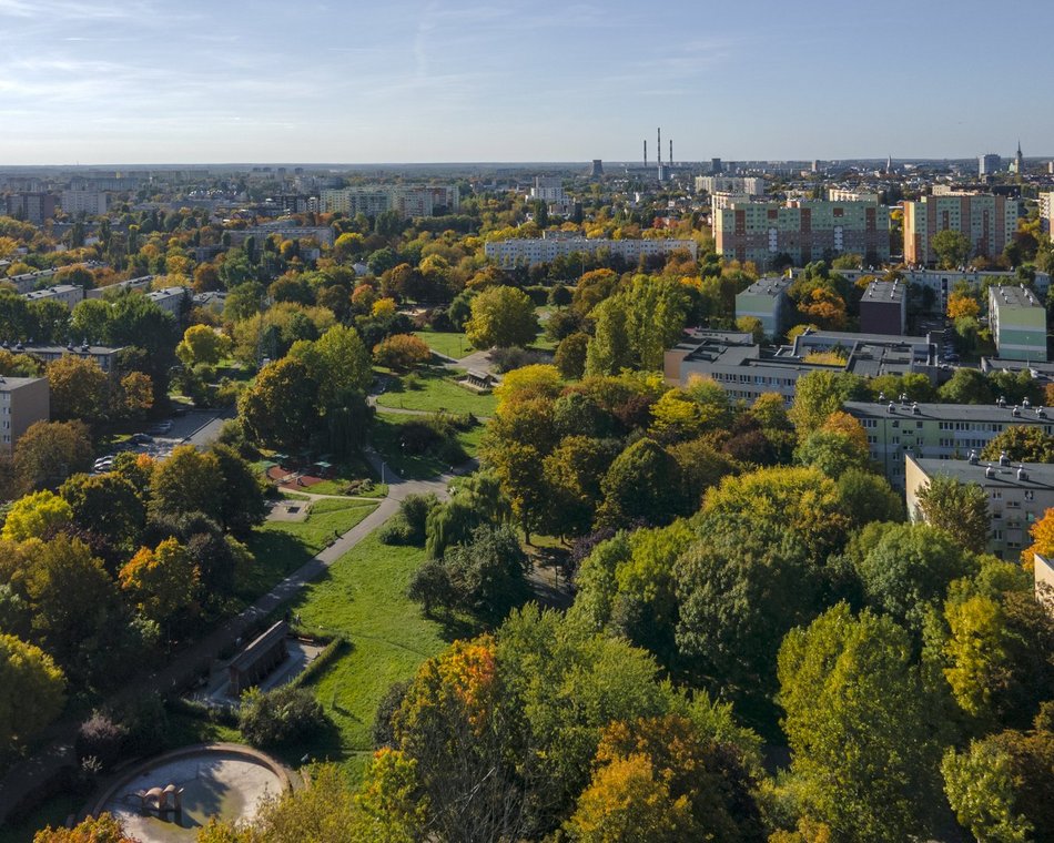
POLYGON ((0 746, 33 738, 62 711, 65 677, 39 647, 0 633, 0 746))

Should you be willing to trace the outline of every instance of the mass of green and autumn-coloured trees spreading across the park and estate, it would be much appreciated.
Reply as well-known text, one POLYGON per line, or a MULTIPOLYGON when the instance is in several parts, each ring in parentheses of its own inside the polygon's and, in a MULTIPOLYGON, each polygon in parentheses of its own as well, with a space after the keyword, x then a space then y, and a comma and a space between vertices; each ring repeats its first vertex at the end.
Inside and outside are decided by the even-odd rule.
MULTIPOLYGON (((655 231, 584 199, 589 221, 564 228, 655 231)), ((363 782, 318 768, 315 786, 253 827, 215 823, 200 841, 1054 840, 1054 620, 1031 573, 1031 550, 1054 551, 1054 515, 1020 561, 985 553, 975 488, 934 484, 930 524, 908 524, 841 412, 883 392, 1054 397, 1027 376, 966 369, 940 390, 918 376, 810 374, 790 409, 777 395, 744 406, 705 379, 671 388, 663 349, 687 326, 732 327, 757 268, 722 262, 690 217, 672 233, 700 244, 698 261, 488 264, 487 237, 538 234, 528 211, 483 194, 450 217, 316 217, 338 235, 317 261, 272 237, 201 263, 188 250, 225 245, 237 223, 126 212, 62 253, 109 268, 65 277, 105 286, 149 272, 227 292, 222 314, 173 319, 134 294, 42 313, 0 292, 0 336, 129 346, 116 382, 51 364, 55 420, 6 468, 0 745, 24 745, 68 697, 94 699, 230 613, 263 517, 246 460, 357 453, 373 367, 422 365, 413 332, 429 327, 513 349, 480 469, 446 501, 407 499, 382 531, 426 549, 411 585, 422 611, 469 632, 392 689, 363 782), (528 351, 539 332, 551 359, 528 351), (221 374, 232 363, 255 377, 221 374), (236 406, 221 444, 75 473, 107 425, 160 412, 170 389, 236 406), (543 540, 574 586, 566 612, 533 602, 525 550, 543 540)), ((1016 256, 1044 266, 1028 225, 1016 256)), ((0 220, 0 257, 29 247, 10 274, 54 261, 45 232, 0 220)), ((795 283, 799 329, 854 325, 862 287, 837 272, 851 263, 811 265, 795 283)), ((950 303, 964 347, 985 342, 983 301, 962 290, 950 303)), ((3 374, 34 366, 0 353, 3 374)), ((403 447, 453 459, 458 424, 407 424, 403 447)), ((1054 454, 1031 430, 993 447, 1054 454)), ((107 820, 78 833, 39 840, 121 840, 107 820)))

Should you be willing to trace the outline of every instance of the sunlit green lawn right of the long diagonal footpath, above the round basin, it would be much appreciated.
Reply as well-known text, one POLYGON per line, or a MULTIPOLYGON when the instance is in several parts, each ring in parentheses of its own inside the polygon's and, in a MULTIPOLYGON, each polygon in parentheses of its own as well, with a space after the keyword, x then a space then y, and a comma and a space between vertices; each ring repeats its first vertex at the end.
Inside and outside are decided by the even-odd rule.
POLYGON ((381 698, 393 683, 411 679, 448 638, 406 597, 424 550, 388 547, 376 536, 368 536, 310 586, 294 608, 305 626, 343 633, 351 642, 312 685, 338 740, 315 741, 304 749, 318 760, 342 762, 356 778, 373 752, 371 732, 381 698))

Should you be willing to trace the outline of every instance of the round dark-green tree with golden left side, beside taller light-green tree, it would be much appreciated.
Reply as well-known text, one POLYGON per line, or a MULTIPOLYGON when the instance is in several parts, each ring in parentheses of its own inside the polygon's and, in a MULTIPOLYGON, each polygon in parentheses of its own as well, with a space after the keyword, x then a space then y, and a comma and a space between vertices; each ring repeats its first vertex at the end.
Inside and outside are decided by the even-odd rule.
POLYGON ((318 424, 318 384, 297 359, 284 357, 260 370, 239 398, 245 433, 256 441, 288 448, 307 441, 318 424))

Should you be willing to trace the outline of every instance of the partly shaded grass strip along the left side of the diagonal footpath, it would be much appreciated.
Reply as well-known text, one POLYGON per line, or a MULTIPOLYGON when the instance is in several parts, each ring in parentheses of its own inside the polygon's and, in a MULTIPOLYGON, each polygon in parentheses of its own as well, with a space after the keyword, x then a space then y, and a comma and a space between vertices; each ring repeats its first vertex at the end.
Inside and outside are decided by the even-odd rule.
POLYGON ((246 542, 256 563, 240 578, 237 596, 249 602, 264 593, 374 509, 363 500, 320 500, 304 521, 267 521, 246 542))

